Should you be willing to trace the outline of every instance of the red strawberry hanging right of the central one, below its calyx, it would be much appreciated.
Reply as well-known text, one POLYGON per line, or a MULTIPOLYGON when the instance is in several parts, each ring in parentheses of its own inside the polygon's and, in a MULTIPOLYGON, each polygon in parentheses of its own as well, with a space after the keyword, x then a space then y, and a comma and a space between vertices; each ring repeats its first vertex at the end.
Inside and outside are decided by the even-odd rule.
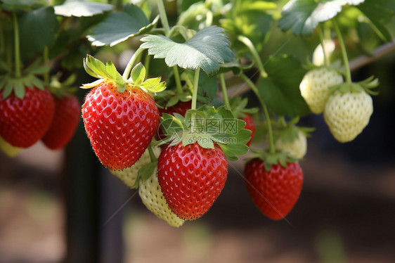
POLYGON ((287 167, 271 165, 267 172, 264 162, 256 158, 245 165, 244 175, 255 205, 273 220, 283 219, 302 191, 303 172, 299 162, 288 162, 287 167))

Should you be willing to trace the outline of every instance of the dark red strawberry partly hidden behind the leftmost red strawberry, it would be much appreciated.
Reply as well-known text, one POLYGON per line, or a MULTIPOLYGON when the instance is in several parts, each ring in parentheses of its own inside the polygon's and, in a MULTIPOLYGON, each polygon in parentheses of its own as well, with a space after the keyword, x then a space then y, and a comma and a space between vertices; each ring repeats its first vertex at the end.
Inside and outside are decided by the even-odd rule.
POLYGON ((55 98, 55 106, 51 127, 41 139, 52 150, 65 147, 72 139, 81 116, 81 105, 74 95, 55 98))

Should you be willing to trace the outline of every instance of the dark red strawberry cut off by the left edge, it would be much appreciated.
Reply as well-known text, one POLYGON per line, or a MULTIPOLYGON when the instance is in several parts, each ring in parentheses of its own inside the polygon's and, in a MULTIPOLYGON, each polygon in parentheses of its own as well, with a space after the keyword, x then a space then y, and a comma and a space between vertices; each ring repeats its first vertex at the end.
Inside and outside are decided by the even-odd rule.
POLYGON ((24 98, 0 93, 0 136, 12 146, 27 148, 39 141, 51 125, 55 103, 48 91, 25 87, 24 98))

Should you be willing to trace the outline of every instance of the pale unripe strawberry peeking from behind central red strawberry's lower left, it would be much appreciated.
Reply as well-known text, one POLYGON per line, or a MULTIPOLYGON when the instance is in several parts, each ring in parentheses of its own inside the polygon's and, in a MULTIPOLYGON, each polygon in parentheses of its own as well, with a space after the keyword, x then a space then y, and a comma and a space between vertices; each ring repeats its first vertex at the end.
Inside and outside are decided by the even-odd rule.
POLYGON ((145 181, 140 180, 138 184, 138 195, 145 207, 148 208, 159 219, 167 222, 170 226, 179 227, 183 225, 184 220, 177 217, 172 212, 164 199, 162 189, 160 188, 159 181, 157 180, 157 169, 145 181))

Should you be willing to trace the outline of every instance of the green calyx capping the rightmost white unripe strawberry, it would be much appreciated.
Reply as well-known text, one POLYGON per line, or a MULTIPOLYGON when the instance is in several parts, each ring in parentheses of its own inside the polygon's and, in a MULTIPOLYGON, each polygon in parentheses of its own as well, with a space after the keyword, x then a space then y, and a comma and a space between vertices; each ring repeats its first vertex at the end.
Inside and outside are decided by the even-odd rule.
POLYGON ((340 91, 342 94, 348 93, 348 92, 355 92, 359 93, 362 91, 365 91, 366 93, 370 95, 377 95, 377 91, 373 91, 373 89, 377 86, 379 86, 379 79, 375 79, 374 76, 368 77, 368 79, 365 79, 361 82, 344 82, 341 84, 337 84, 335 86, 331 86, 329 88, 329 91, 335 92, 335 91, 340 91))

